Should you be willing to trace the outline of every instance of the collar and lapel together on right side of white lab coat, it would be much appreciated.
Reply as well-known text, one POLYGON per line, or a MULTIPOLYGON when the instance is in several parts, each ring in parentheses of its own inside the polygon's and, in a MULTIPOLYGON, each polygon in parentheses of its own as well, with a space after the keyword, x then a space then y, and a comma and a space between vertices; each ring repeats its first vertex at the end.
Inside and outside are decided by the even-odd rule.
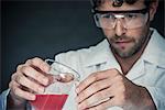
POLYGON ((135 80, 146 74, 145 63, 152 66, 151 69, 155 69, 155 67, 165 68, 165 41, 155 29, 151 29, 151 31, 153 31, 153 33, 143 55, 133 65, 129 74, 127 74, 127 77, 131 80, 135 80))

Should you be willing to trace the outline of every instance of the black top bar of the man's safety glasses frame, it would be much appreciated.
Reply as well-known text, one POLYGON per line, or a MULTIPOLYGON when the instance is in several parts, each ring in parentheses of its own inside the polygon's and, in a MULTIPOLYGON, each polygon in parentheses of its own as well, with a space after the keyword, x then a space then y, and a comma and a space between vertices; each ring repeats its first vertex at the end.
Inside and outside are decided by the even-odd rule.
POLYGON ((146 12, 148 11, 148 8, 144 8, 144 9, 141 9, 141 10, 119 10, 119 11, 100 11, 100 10, 96 10, 96 9, 92 9, 92 13, 101 13, 101 14, 105 14, 105 13, 143 13, 145 14, 146 12))

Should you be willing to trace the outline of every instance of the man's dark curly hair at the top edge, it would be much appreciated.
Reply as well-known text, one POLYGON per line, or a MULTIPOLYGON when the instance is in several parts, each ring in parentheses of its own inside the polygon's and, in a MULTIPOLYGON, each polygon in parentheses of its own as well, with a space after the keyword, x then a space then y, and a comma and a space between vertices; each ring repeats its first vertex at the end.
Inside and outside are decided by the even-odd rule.
MULTIPOLYGON (((113 0, 113 7, 121 7, 122 3, 133 4, 139 0, 113 0)), ((146 8, 150 8, 151 3, 155 2, 156 0, 144 0, 144 4, 146 8)), ((92 7, 98 8, 105 0, 91 0, 92 7)))

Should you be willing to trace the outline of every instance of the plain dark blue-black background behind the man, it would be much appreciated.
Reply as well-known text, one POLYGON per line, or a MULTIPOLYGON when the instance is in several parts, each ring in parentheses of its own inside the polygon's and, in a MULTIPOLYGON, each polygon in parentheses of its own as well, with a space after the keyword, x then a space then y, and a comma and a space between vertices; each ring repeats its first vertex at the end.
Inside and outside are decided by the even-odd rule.
MULTIPOLYGON (((100 42, 103 35, 95 26, 90 8, 89 0, 1 1, 0 92, 28 58, 54 58, 57 53, 100 42)), ((152 25, 165 35, 164 0, 152 25)))

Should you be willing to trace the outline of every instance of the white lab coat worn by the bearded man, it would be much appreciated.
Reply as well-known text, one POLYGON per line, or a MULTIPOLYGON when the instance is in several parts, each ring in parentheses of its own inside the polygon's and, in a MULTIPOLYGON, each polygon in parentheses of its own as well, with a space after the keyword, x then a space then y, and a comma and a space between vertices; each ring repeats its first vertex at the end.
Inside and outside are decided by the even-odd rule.
MULTIPOLYGON (((125 77, 136 85, 147 88, 157 110, 165 110, 165 40, 156 30, 153 30, 153 34, 143 55, 125 77)), ((89 48, 58 54, 55 56, 55 61, 77 70, 80 74, 80 80, 99 70, 117 68, 121 72, 121 67, 112 55, 107 40, 89 48)), ((7 95, 8 92, 2 94, 1 105, 3 108, 7 105, 7 95)), ((73 87, 63 110, 77 110, 75 97, 75 87, 73 87)), ((108 110, 122 109, 112 107, 108 110)))

